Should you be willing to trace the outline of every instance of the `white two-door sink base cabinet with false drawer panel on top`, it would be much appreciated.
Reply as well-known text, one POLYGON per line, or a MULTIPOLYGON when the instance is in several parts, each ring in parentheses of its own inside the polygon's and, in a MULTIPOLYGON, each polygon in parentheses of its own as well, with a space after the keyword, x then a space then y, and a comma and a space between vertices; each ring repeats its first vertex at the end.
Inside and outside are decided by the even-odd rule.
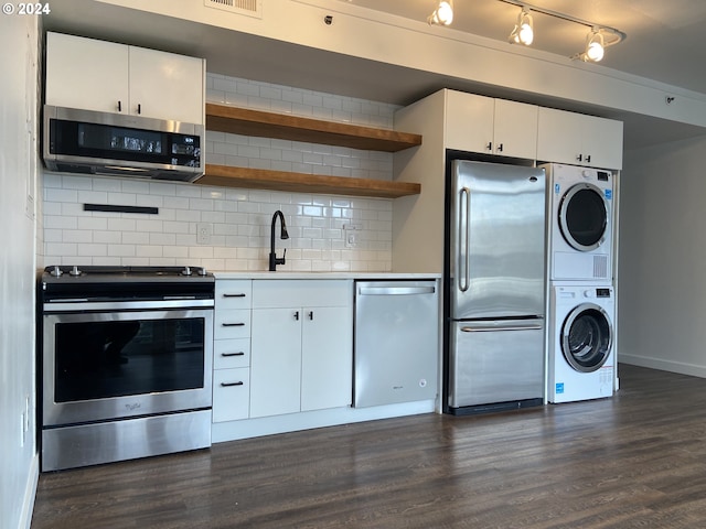
POLYGON ((350 406, 353 285, 253 282, 250 418, 350 406))

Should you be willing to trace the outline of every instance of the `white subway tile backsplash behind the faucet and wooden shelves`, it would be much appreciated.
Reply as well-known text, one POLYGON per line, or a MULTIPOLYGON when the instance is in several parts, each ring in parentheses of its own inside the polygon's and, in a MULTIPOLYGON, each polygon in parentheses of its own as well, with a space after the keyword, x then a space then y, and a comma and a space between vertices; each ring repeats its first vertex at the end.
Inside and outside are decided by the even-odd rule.
MULTIPOLYGON (((393 126, 397 107, 208 74, 207 99, 370 127, 393 126)), ((206 162, 309 174, 392 180, 387 152, 207 132, 206 162)), ((192 184, 44 174, 45 264, 204 266, 210 270, 267 270, 270 220, 285 214, 290 239, 280 270, 389 271, 392 201, 238 190, 192 184), (84 203, 153 206, 158 215, 83 210, 84 203), (196 226, 212 227, 196 244, 196 226), (345 247, 343 226, 357 244, 345 247)))

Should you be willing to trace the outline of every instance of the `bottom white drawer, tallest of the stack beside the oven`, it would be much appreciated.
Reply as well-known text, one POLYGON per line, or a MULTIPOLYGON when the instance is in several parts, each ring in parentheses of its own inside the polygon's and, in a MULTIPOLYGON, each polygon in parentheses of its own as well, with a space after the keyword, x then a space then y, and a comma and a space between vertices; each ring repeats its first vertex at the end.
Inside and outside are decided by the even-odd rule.
POLYGON ((213 374, 213 422, 248 418, 250 370, 218 369, 213 374))

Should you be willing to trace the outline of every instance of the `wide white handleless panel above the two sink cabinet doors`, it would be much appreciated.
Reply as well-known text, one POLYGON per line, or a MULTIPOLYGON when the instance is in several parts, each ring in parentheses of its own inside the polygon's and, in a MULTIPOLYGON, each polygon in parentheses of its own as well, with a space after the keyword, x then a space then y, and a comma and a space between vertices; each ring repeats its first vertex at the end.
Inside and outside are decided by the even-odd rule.
POLYGON ((253 281, 253 307, 346 306, 352 303, 352 280, 267 279, 253 281))

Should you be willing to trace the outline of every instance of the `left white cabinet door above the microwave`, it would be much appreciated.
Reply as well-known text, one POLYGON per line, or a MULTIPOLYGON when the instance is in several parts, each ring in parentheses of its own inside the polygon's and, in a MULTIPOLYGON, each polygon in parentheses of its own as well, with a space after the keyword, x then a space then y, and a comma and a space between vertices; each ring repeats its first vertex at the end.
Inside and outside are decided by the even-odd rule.
POLYGON ((127 112, 128 46, 47 33, 46 104, 127 112))

